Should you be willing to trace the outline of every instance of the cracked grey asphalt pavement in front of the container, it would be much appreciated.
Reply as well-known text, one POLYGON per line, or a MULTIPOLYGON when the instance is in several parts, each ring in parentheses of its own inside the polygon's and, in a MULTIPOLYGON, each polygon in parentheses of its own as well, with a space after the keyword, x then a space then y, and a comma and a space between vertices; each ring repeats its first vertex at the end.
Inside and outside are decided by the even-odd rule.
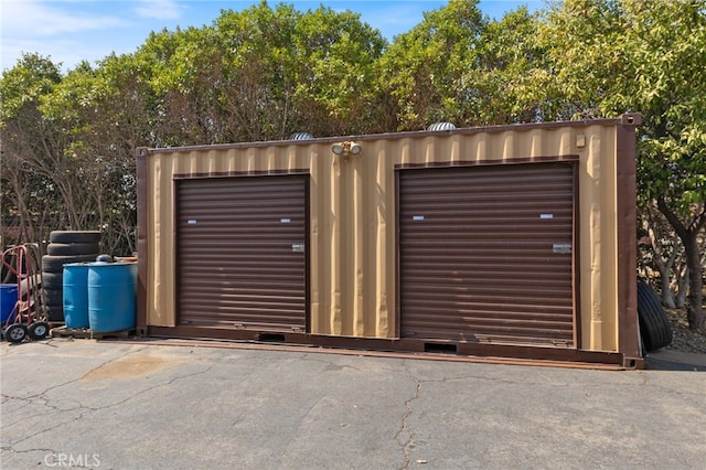
POLYGON ((2 343, 2 469, 704 469, 706 372, 2 343))

